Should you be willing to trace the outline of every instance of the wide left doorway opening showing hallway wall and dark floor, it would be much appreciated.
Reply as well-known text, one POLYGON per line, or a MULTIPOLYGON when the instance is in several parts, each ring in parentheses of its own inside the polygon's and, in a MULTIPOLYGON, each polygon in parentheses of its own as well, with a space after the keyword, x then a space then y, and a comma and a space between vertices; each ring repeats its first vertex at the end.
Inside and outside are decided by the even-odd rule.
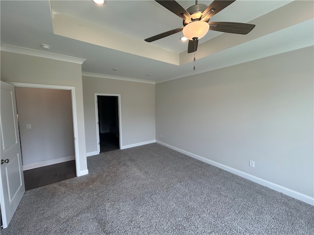
POLYGON ((76 176, 71 91, 15 87, 26 190, 76 176))

